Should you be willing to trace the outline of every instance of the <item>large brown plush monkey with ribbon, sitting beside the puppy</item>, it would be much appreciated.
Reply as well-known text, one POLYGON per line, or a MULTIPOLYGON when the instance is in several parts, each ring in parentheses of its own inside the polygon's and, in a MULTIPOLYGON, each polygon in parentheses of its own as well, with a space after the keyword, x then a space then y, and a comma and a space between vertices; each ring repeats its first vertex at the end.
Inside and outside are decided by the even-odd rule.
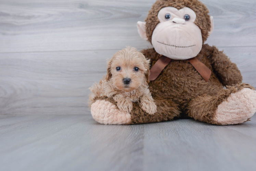
POLYGON ((133 103, 129 114, 114 100, 95 97, 93 118, 102 124, 182 117, 219 125, 249 120, 256 112, 256 91, 242 83, 239 69, 223 52, 204 44, 214 27, 208 13, 198 0, 156 1, 146 22, 138 22, 138 31, 154 47, 142 53, 151 59, 149 89, 157 112, 149 115, 133 103))

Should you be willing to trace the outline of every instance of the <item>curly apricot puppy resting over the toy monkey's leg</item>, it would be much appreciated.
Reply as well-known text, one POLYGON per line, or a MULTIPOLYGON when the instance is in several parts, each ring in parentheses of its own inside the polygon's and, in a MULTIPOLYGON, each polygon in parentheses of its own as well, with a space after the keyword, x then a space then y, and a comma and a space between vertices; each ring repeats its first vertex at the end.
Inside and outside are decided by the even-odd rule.
POLYGON ((149 74, 150 60, 136 48, 115 53, 107 63, 107 75, 90 88, 89 106, 96 97, 107 96, 117 102, 120 110, 130 113, 132 102, 137 102, 146 113, 154 114, 156 105, 148 89, 149 74))

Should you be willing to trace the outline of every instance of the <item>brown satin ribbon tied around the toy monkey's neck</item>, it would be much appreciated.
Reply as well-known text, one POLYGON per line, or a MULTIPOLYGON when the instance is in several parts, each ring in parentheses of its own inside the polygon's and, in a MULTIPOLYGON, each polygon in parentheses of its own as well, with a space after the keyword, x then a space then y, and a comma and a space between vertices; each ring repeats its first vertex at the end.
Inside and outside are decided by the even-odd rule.
MULTIPOLYGON (((212 71, 205 66, 202 62, 200 62, 197 57, 193 57, 191 59, 188 59, 188 61, 194 66, 194 68, 197 70, 197 72, 203 77, 203 79, 208 82, 210 75, 212 71)), ((152 66, 150 70, 150 76, 149 80, 153 81, 155 80, 159 74, 162 72, 162 70, 171 62, 171 59, 162 56, 158 61, 156 61, 155 65, 152 66)))

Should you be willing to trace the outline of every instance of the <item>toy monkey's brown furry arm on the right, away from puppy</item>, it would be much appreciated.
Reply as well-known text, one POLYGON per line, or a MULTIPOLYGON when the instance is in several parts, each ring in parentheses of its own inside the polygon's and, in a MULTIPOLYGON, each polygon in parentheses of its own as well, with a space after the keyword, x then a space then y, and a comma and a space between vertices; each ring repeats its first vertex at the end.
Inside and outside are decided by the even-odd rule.
POLYGON ((219 51, 215 46, 210 47, 208 44, 206 48, 210 52, 210 55, 207 56, 212 64, 213 71, 224 86, 242 83, 243 77, 240 70, 223 51, 219 51))

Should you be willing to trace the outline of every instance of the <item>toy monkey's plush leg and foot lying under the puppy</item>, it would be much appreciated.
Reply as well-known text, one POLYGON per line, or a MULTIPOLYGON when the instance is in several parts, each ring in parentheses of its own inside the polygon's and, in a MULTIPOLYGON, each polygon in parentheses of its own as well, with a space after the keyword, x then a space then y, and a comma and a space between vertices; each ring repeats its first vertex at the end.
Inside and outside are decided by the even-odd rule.
POLYGON ((167 103, 162 98, 157 98, 154 102, 156 103, 157 111, 153 115, 143 111, 137 103, 132 103, 133 109, 131 114, 129 114, 119 110, 114 100, 107 97, 100 97, 91 105, 91 114, 101 124, 161 122, 172 120, 174 117, 179 116, 179 106, 174 102, 167 103))

